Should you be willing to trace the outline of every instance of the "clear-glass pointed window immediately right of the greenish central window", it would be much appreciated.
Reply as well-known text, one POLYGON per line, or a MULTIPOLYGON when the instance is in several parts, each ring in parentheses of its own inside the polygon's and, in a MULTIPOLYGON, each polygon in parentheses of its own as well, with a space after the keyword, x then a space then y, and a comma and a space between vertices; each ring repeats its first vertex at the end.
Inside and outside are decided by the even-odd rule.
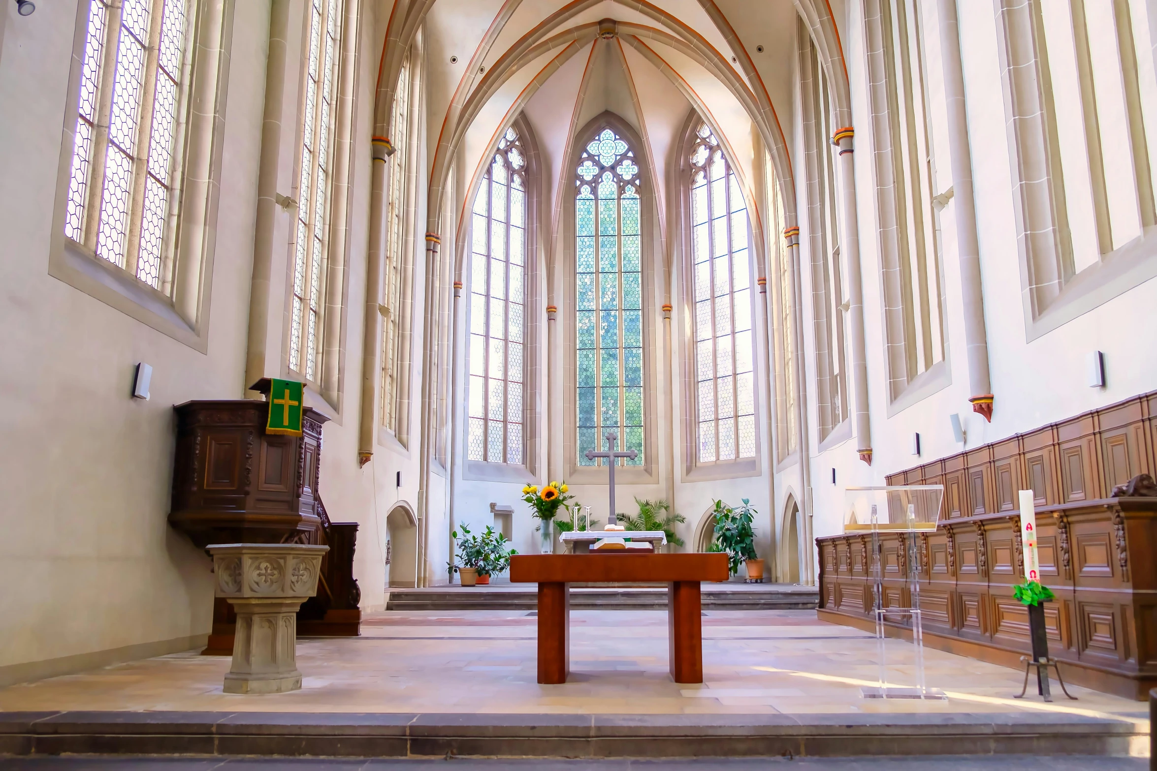
POLYGON ((690 160, 697 460, 710 464, 754 458, 747 207, 707 124, 695 131, 690 160))

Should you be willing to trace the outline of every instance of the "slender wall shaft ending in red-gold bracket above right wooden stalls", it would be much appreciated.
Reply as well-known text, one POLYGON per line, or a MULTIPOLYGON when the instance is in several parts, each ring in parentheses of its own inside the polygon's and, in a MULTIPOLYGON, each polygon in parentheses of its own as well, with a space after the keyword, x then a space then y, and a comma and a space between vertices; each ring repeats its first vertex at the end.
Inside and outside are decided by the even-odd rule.
POLYGON ((952 200, 956 244, 960 258, 960 295, 964 299, 964 341, 968 362, 972 409, 993 417, 993 383, 988 372, 988 332, 980 284, 980 243, 977 237, 977 202, 972 187, 972 149, 964 102, 964 67, 956 0, 938 0, 944 101, 948 105, 949 158, 952 164, 952 200))

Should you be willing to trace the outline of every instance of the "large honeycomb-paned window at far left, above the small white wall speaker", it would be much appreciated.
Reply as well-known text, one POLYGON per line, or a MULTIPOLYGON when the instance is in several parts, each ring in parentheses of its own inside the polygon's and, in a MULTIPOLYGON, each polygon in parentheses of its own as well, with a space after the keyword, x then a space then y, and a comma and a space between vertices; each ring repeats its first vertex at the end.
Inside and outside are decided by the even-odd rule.
POLYGON ((169 292, 196 0, 86 0, 65 235, 169 292))

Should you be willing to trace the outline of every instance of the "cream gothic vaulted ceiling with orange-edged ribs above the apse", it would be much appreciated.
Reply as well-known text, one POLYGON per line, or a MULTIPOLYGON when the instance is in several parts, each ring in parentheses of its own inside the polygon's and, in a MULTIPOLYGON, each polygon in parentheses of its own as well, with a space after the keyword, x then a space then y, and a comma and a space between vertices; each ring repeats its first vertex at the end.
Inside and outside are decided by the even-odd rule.
POLYGON ((694 110, 722 140, 749 192, 761 180, 764 148, 769 151, 791 222, 791 79, 801 17, 820 38, 825 68, 842 68, 830 0, 397 0, 375 134, 389 138, 397 72, 421 30, 430 230, 440 231, 447 203, 460 213, 501 132, 519 113, 535 134, 543 200, 557 224, 575 134, 605 111, 646 146, 639 155, 657 180, 661 213, 670 166, 678 163, 676 144, 694 110))

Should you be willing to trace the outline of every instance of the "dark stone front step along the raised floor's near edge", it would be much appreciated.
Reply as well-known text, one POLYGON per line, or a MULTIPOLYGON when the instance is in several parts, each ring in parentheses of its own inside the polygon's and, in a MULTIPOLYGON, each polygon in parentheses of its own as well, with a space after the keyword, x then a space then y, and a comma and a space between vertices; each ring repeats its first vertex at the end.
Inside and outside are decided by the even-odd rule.
MULTIPOLYGON (((445 759, 451 756, 795 758, 1011 753, 1125 756, 1137 754, 1141 748, 1147 750, 1148 743, 1145 720, 1061 712, 710 716, 0 712, 0 756, 97 753, 121 756, 106 768, 121 768, 117 764, 133 755, 445 759)), ((20 761, 16 763, 20 765, 20 761)), ((769 768, 767 763, 764 761, 759 768, 769 768)), ((338 765, 336 762, 334 768, 338 765)), ((848 768, 852 765, 861 768, 858 763, 848 768)), ((871 765, 885 768, 886 761, 871 765)), ((967 762, 959 768, 964 765, 967 762)), ((1105 766, 1103 758, 1090 758, 1090 764, 1083 768, 1105 766)))

